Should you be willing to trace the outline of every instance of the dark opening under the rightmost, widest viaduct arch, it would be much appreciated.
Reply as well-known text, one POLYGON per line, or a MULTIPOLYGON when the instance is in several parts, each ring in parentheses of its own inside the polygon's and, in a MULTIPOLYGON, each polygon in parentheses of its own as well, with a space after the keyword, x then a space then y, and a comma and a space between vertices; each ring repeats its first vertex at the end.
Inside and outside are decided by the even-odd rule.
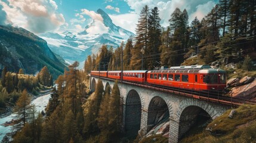
POLYGON ((181 110, 179 117, 178 139, 187 135, 194 126, 206 126, 212 120, 211 115, 198 105, 188 105, 181 110))

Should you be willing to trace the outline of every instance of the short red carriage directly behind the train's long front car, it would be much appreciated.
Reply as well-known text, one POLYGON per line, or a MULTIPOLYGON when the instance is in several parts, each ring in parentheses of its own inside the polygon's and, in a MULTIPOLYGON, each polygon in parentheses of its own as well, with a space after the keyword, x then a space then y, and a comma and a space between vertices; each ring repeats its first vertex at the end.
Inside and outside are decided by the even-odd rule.
POLYGON ((125 70, 123 71, 123 80, 131 82, 146 82, 147 70, 125 70))

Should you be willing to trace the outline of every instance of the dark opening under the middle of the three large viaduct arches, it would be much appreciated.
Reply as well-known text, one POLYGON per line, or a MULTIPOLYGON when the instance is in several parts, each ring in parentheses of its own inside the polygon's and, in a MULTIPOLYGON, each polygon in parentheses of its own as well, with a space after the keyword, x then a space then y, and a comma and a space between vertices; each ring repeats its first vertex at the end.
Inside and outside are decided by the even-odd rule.
POLYGON ((147 111, 147 132, 159 122, 169 120, 169 108, 165 100, 161 97, 153 97, 149 102, 147 111))

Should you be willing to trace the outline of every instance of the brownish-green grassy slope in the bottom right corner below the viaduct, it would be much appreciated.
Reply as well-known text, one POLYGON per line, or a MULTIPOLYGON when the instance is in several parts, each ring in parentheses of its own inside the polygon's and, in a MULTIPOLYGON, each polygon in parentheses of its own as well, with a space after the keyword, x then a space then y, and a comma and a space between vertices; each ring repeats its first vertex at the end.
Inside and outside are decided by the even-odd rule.
POLYGON ((256 105, 241 105, 233 119, 228 117, 230 111, 209 123, 207 128, 211 128, 211 132, 203 130, 180 142, 256 142, 256 105))

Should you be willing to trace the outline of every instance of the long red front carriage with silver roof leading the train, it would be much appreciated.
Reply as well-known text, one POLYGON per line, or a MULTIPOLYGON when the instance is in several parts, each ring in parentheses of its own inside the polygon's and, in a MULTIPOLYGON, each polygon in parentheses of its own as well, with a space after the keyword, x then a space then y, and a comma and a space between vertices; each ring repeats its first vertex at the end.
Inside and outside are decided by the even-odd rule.
POLYGON ((171 67, 148 71, 147 82, 196 91, 223 90, 226 87, 226 73, 207 65, 171 67))

